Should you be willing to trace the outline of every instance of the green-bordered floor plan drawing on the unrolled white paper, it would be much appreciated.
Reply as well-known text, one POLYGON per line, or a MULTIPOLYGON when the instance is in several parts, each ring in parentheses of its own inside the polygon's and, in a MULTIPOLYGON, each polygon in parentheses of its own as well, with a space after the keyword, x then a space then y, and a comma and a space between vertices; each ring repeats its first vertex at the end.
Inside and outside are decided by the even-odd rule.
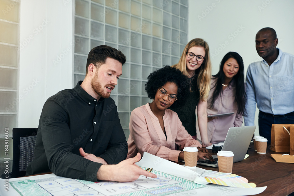
POLYGON ((133 182, 90 182, 55 176, 38 180, 19 180, 10 183, 23 196, 32 195, 32 190, 34 190, 34 195, 45 196, 112 196, 129 195, 130 193, 132 195, 161 196, 204 187, 204 185, 198 185, 192 181, 163 172, 156 170, 152 172, 157 175, 157 178, 140 176, 133 182))

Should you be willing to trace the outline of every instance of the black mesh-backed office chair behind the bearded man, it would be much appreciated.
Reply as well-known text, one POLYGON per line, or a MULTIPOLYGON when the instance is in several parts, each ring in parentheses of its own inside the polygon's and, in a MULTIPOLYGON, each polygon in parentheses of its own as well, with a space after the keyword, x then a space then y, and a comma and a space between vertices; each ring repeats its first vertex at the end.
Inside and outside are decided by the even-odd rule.
MULTIPOLYGON (((26 167, 35 158, 35 145, 38 128, 13 128, 13 155, 12 155, 12 172, 9 178, 23 177, 26 175, 26 167)), ((6 178, 7 174, 2 174, 6 178)))

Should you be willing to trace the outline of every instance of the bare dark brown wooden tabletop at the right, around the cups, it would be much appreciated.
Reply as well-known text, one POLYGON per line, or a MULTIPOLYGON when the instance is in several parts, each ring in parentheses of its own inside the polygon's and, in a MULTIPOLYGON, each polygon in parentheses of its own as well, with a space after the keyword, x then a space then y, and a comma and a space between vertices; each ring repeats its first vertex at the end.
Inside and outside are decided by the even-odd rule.
MULTIPOLYGON (((266 154, 254 151, 253 143, 248 150, 249 157, 233 163, 233 174, 240 175, 253 182, 257 187, 268 186, 258 195, 286 196, 294 192, 294 163, 277 163, 270 154, 285 154, 267 150, 266 154)), ((218 167, 197 165, 206 170, 218 171, 218 167)))

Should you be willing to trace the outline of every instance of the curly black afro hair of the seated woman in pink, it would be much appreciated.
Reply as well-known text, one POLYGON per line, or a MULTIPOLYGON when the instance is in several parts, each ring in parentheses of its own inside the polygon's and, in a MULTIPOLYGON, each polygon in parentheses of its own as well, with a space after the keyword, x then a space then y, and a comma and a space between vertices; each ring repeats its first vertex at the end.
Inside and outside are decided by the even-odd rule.
POLYGON ((166 65, 163 68, 150 73, 147 79, 148 81, 145 84, 145 91, 150 99, 155 98, 158 88, 162 87, 167 82, 172 82, 178 86, 178 100, 171 105, 171 108, 181 106, 186 102, 190 91, 189 83, 187 76, 185 76, 179 69, 166 65))

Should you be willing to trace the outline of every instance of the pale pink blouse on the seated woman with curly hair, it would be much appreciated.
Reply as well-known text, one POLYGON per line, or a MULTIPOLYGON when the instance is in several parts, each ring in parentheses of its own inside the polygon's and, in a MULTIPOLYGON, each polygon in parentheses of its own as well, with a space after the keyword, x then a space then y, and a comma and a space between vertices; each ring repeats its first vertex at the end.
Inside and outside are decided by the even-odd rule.
POLYGON ((201 147, 201 144, 188 134, 174 111, 165 110, 163 123, 166 136, 158 118, 152 113, 149 103, 134 109, 129 125, 127 158, 136 156, 138 152, 143 156, 143 152, 147 152, 167 160, 178 161, 181 151, 174 150, 176 144, 180 149, 185 146, 201 147))

